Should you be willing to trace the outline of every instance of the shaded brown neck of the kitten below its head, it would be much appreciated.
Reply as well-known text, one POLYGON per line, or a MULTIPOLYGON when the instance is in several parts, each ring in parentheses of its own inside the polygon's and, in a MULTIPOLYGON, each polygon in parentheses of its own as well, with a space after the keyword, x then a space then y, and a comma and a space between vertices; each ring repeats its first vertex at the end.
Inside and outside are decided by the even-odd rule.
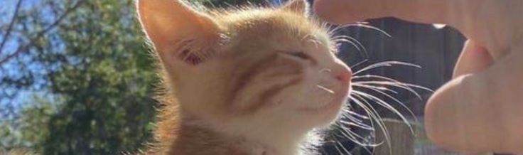
POLYGON ((300 141, 284 135, 237 134, 229 129, 224 131, 223 125, 227 124, 217 127, 190 114, 183 114, 176 125, 164 154, 301 155, 300 141))

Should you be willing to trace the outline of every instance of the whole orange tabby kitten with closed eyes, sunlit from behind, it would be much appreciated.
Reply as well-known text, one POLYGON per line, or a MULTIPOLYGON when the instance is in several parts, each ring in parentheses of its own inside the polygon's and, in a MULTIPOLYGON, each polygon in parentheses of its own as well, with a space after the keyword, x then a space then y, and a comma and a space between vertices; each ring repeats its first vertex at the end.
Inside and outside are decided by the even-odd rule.
POLYGON ((136 1, 163 77, 147 154, 313 154, 350 94, 352 72, 305 0, 199 11, 136 1))

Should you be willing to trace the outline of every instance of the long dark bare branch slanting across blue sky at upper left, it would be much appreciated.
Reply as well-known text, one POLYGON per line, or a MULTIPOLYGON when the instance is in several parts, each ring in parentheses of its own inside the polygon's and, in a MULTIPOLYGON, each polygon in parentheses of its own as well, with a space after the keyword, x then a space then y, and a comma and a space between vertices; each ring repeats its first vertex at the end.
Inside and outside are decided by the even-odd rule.
POLYGON ((63 21, 63 19, 68 16, 68 14, 70 14, 72 11, 74 11, 75 9, 77 9, 79 6, 81 6, 86 0, 80 0, 78 1, 74 6, 70 7, 69 9, 67 9, 60 17, 58 17, 58 19, 56 19, 56 21, 54 21, 53 23, 51 23, 49 26, 47 26, 45 29, 43 29, 42 31, 38 32, 36 34, 36 36, 31 39, 31 41, 29 41, 28 44, 26 44, 25 46, 18 46, 18 48, 15 50, 14 53, 11 53, 10 55, 7 55, 5 58, 2 58, 0 59, 0 65, 3 65, 4 63, 8 62, 9 60, 11 60, 11 58, 14 58, 16 57, 17 55, 19 55, 20 53, 22 53, 23 51, 26 51, 28 50, 28 48, 31 48, 31 46, 33 46, 35 44, 35 41, 37 41, 39 38, 42 38, 43 35, 45 35, 45 33, 48 33, 48 31, 51 31, 53 28, 55 28, 56 26, 58 26, 60 24, 60 22, 63 21))

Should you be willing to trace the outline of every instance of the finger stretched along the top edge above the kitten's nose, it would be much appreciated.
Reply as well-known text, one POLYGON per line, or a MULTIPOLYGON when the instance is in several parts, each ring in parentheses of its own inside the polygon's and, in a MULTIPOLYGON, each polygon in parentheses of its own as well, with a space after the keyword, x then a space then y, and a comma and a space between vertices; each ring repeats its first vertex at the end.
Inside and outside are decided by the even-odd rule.
POLYGON ((333 23, 353 23, 368 18, 395 16, 419 23, 447 23, 472 11, 473 0, 317 0, 313 9, 333 23), (470 2, 470 3, 469 3, 470 2))

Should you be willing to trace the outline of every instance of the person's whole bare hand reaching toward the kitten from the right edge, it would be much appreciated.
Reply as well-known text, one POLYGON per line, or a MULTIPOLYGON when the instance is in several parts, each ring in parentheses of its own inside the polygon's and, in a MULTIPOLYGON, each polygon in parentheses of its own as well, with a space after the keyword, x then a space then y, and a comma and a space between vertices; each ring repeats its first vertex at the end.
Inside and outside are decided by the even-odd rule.
POLYGON ((470 154, 523 154, 523 1, 317 0, 313 9, 340 24, 394 16, 458 29, 468 41, 453 80, 428 101, 428 137, 470 154))

